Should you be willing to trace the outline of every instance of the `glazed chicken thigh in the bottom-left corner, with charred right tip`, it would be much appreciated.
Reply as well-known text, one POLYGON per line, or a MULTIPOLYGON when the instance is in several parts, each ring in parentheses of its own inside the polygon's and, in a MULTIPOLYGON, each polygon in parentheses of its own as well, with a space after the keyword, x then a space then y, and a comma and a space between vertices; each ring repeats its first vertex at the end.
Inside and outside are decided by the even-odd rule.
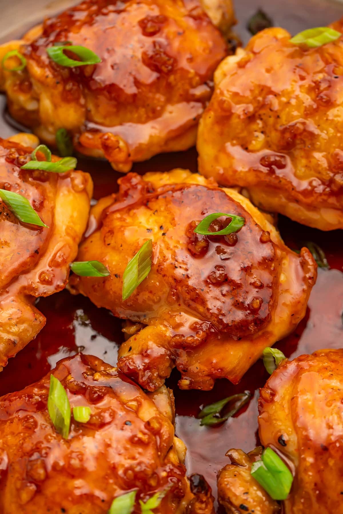
POLYGON ((147 395, 117 368, 82 354, 59 361, 52 374, 71 409, 88 406, 91 419, 78 423, 72 416, 62 438, 47 410, 50 373, 0 398, 2 514, 106 514, 114 498, 135 489, 135 513, 139 499, 158 491, 166 495, 156 513, 212 512, 210 492, 207 505, 201 499, 204 510, 187 510, 197 498, 166 387, 147 395))

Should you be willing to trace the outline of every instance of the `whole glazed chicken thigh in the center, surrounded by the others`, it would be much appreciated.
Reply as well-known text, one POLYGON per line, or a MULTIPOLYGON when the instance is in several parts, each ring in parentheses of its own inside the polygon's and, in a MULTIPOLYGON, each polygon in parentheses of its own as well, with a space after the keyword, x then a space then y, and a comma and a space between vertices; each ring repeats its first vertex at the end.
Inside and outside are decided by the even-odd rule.
POLYGON ((91 211, 97 228, 78 255, 99 260, 111 275, 73 275, 70 289, 147 325, 121 345, 118 361, 143 388, 159 388, 174 366, 182 389, 208 390, 221 377, 238 382, 264 347, 303 318, 316 279, 311 253, 290 251, 249 200, 200 175, 131 173, 119 183, 119 193, 91 211), (245 225, 228 236, 195 234, 213 212, 243 216, 245 225), (124 269, 150 238, 151 272, 122 301, 124 269))

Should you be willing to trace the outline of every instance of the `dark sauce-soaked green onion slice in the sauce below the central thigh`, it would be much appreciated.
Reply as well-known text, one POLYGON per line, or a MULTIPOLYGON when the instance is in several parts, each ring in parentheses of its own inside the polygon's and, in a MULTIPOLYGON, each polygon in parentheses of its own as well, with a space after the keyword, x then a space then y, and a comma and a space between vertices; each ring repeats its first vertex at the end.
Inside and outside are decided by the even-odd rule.
POLYGON ((234 394, 228 396, 223 400, 215 401, 210 405, 204 407, 197 415, 201 419, 200 425, 215 426, 223 423, 229 417, 242 409, 242 407, 249 401, 251 397, 250 391, 244 391, 244 393, 234 394), (222 410, 229 404, 229 411, 221 416, 222 410))

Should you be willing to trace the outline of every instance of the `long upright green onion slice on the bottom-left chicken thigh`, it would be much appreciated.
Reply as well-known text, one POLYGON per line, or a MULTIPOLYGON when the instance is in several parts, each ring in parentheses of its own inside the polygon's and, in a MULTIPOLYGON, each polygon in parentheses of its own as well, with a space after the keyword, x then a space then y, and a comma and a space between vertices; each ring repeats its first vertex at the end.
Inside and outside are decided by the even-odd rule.
POLYGON ((70 403, 61 382, 53 375, 50 375, 48 412, 53 426, 67 439, 70 429, 70 403))

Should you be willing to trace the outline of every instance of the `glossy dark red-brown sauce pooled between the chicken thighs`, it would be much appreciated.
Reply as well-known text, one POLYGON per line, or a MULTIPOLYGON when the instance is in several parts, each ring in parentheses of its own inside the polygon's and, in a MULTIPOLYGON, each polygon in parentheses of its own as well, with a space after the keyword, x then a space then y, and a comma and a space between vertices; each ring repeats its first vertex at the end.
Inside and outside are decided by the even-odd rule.
MULTIPOLYGON (((273 20, 292 34, 305 28, 326 25, 343 15, 343 4, 329 0, 238 0, 236 31, 243 42, 249 38, 246 23, 257 8, 262 8, 273 20)), ((4 116, 0 121, 0 136, 9 137, 23 128, 16 126, 5 111, 5 99, 0 97, 4 116)), ((135 164, 133 171, 168 171, 188 168, 196 171, 196 151, 159 155, 135 164)), ((94 198, 115 192, 120 174, 105 161, 79 158, 78 168, 92 174, 94 198)), ((279 229, 285 243, 298 249, 302 241, 317 243, 326 253, 330 269, 319 269, 305 318, 296 331, 276 343, 289 358, 311 353, 319 348, 343 346, 343 237, 341 231, 320 232, 282 216, 279 229)), ((71 296, 62 291, 49 298, 39 299, 39 309, 47 318, 46 326, 15 358, 10 359, 0 374, 0 395, 17 391, 39 380, 56 362, 78 351, 101 357, 115 365, 120 343, 123 341, 121 321, 109 311, 98 309, 87 298, 71 296)), ((228 380, 218 380, 212 391, 180 391, 178 372, 173 371, 168 386, 174 391, 176 406, 176 432, 187 447, 188 473, 202 473, 215 494, 216 472, 229 462, 225 452, 229 448, 253 449, 258 440, 257 398, 259 388, 268 377, 262 361, 257 362, 238 386, 228 380), (249 390, 251 400, 238 415, 216 428, 201 427, 195 417, 202 406, 234 393, 249 390)), ((219 512, 223 512, 221 509, 219 512)))

